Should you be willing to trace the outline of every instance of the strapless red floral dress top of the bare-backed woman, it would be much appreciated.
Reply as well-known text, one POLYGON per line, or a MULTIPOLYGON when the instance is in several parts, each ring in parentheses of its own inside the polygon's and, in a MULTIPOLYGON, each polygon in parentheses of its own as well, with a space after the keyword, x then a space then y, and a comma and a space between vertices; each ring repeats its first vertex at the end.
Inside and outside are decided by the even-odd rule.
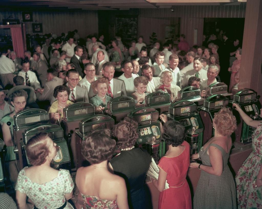
POLYGON ((83 195, 82 193, 81 195, 85 202, 85 207, 82 208, 118 209, 116 200, 103 200, 95 196, 83 195))

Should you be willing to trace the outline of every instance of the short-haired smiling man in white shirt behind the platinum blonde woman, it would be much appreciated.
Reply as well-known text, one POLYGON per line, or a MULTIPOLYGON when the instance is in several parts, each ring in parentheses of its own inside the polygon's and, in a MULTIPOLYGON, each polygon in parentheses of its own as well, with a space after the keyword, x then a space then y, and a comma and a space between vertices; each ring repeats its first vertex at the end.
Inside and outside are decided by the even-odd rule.
POLYGON ((172 54, 169 56, 169 69, 173 76, 172 84, 181 87, 181 79, 180 79, 180 70, 177 67, 179 63, 178 56, 176 54, 172 54))

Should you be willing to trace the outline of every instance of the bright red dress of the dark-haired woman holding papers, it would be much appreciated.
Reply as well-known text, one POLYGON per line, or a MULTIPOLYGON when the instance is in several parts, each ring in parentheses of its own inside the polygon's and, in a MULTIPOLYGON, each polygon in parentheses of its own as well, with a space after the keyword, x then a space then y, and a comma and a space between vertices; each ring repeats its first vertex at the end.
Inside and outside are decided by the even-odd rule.
POLYGON ((187 180, 189 167, 189 149, 187 142, 182 143, 184 151, 176 157, 162 157, 159 168, 167 173, 167 183, 170 188, 159 194, 158 208, 160 209, 191 209, 192 201, 187 180), (174 176, 176 178, 174 178, 174 176))

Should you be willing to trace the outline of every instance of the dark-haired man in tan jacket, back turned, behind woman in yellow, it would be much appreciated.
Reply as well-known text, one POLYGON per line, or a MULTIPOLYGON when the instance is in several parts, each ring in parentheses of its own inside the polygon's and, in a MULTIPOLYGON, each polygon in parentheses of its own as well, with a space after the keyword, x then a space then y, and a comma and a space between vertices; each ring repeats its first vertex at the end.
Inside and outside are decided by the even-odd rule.
POLYGON ((44 88, 39 90, 36 93, 37 99, 39 101, 48 100, 51 102, 53 98, 54 88, 59 85, 63 85, 63 79, 58 78, 58 71, 55 69, 47 70, 47 82, 44 85, 44 88))

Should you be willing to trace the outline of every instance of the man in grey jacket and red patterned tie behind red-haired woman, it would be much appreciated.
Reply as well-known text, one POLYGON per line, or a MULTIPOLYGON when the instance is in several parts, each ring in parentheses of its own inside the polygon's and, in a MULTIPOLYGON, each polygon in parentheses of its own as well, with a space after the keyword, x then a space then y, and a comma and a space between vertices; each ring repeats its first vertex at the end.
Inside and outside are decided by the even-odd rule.
MULTIPOLYGON (((111 96, 112 98, 126 96, 127 93, 125 92, 125 84, 123 81, 113 78, 114 77, 114 70, 115 66, 111 62, 106 62, 103 65, 102 73, 105 78, 109 81, 109 89, 107 95, 111 96)), ((92 86, 90 86, 88 97, 91 98, 95 96, 92 86)))

